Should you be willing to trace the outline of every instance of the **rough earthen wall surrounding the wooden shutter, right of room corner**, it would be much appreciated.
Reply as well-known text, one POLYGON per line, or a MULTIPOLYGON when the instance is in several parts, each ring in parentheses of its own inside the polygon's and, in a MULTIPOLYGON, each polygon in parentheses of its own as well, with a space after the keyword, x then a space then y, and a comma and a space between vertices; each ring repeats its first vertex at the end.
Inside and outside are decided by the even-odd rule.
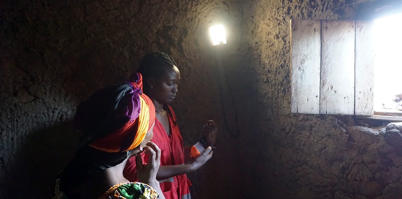
POLYGON ((363 13, 363 4, 353 3, 250 1, 242 7, 247 19, 244 35, 248 48, 244 49, 250 49, 245 52, 245 67, 254 73, 249 77, 255 79, 256 92, 252 94, 255 149, 250 170, 253 181, 265 190, 253 196, 402 198, 401 135, 396 124, 386 126, 389 122, 352 116, 289 114, 289 20, 374 17, 373 4, 360 2, 365 4, 365 12, 371 13, 362 17, 356 13, 363 13))

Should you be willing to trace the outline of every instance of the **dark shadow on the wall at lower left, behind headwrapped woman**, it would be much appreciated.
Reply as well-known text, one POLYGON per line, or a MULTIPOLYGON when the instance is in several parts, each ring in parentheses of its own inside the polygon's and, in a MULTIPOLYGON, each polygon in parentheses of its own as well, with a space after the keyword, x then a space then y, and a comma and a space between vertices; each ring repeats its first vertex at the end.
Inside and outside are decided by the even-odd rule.
POLYGON ((29 133, 8 165, 7 195, 51 198, 56 175, 74 155, 79 136, 72 122, 29 133))

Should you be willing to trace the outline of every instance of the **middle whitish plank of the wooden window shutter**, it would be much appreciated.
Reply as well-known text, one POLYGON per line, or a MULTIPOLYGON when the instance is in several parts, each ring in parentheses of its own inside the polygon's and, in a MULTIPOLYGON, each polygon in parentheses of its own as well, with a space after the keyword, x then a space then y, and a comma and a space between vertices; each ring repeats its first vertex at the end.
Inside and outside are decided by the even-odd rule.
POLYGON ((355 21, 322 20, 320 114, 355 112, 355 21))

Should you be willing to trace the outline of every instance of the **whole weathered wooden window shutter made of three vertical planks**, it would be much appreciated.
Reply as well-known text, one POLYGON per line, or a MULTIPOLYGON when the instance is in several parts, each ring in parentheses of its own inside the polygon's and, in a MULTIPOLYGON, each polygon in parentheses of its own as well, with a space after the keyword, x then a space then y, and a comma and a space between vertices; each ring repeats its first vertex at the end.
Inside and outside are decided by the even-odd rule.
POLYGON ((372 21, 291 20, 291 112, 373 115, 372 21))

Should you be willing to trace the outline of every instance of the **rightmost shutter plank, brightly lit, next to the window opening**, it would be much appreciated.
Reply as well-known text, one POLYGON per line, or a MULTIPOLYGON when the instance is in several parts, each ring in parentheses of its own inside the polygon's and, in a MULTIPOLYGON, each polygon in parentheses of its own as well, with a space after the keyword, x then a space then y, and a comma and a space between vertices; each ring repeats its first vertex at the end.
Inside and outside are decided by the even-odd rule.
POLYGON ((356 21, 355 114, 374 114, 374 21, 356 21))

